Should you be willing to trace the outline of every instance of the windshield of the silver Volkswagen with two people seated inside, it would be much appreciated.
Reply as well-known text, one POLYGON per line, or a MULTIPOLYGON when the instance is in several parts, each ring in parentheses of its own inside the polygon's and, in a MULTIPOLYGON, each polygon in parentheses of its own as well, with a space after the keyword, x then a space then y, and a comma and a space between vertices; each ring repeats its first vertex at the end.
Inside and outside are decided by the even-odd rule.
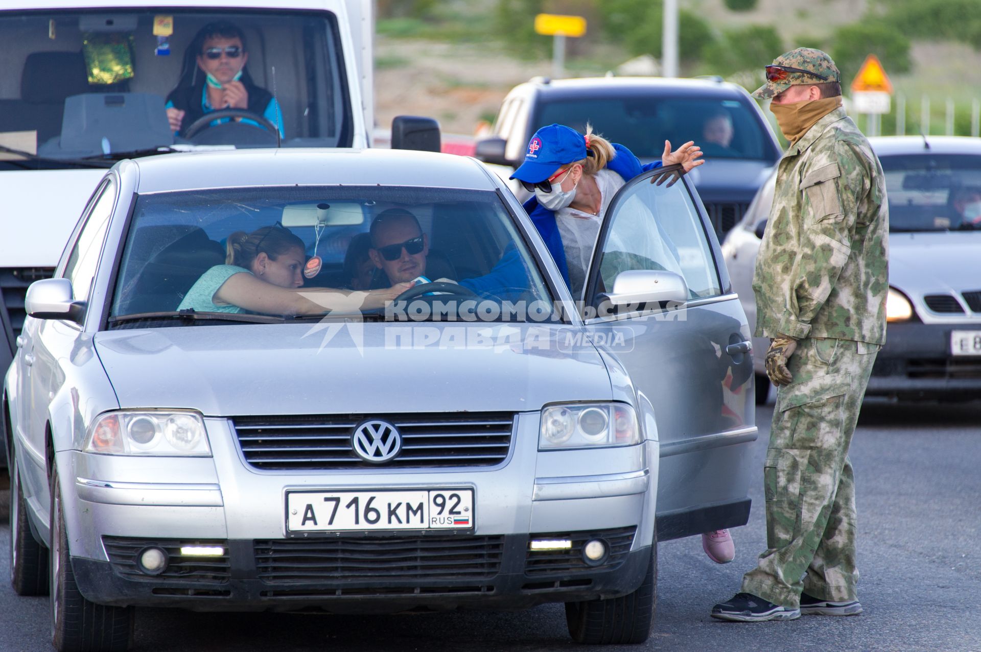
POLYGON ((186 320, 164 318, 217 312, 234 313, 237 321, 284 318, 255 298, 284 292, 332 306, 309 313, 317 318, 455 321, 460 311, 471 317, 478 311, 481 321, 520 322, 530 321, 520 307, 542 312, 552 305, 511 215, 490 191, 270 186, 163 192, 139 196, 131 220, 111 325, 156 319, 162 322, 153 326, 179 326, 186 320), (251 283, 248 302, 224 303, 219 289, 239 274, 251 283), (334 307, 321 299, 413 279, 420 287, 439 281, 431 289, 440 293, 405 297, 384 309, 359 301, 334 307), (434 308, 437 300, 442 308, 434 308))

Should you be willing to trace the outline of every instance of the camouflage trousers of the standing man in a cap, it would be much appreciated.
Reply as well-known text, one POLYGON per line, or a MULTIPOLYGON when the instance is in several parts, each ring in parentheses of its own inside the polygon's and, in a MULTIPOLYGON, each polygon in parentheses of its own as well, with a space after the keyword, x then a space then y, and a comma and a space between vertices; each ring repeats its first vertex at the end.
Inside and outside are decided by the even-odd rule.
POLYGON ((805 338, 788 362, 763 468, 766 546, 743 592, 797 608, 800 592, 855 599, 855 494, 849 446, 878 344, 805 338))

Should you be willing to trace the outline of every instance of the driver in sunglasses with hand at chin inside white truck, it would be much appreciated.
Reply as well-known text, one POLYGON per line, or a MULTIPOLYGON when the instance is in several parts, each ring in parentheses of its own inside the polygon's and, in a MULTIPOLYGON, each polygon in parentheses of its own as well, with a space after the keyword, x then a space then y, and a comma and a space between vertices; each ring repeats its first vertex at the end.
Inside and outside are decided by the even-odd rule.
MULTIPOLYGON (((184 58, 178 87, 167 96, 167 120, 171 129, 183 129, 202 116, 220 109, 242 109, 278 125, 283 136, 280 105, 265 88, 257 86, 245 70, 248 51, 245 36, 231 23, 209 23, 198 30, 184 58)), ((239 120, 265 128, 247 118, 225 118, 212 125, 239 120)))

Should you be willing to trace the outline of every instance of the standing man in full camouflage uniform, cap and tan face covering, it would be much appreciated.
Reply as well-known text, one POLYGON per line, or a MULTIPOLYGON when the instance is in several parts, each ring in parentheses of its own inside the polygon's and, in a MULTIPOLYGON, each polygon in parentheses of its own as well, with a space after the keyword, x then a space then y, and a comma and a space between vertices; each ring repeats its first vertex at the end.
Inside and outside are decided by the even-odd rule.
POLYGON ((766 372, 779 386, 763 469, 767 550, 714 618, 861 612, 848 451, 886 337, 889 215, 840 78, 827 54, 800 48, 754 93, 773 98, 790 141, 753 276, 756 335, 771 338, 766 372))

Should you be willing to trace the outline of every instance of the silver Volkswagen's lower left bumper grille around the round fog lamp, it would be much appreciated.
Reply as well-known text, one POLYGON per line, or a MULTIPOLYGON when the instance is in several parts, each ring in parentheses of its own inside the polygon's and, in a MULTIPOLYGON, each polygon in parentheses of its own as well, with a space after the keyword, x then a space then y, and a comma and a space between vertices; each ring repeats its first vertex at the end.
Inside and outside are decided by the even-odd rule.
POLYGON ((223 583, 229 581, 231 564, 227 541, 201 539, 145 539, 124 536, 103 536, 102 545, 113 570, 127 579, 160 581, 161 579, 223 583), (221 546, 220 557, 194 557, 181 554, 183 546, 221 546), (163 573, 149 576, 136 565, 136 556, 144 548, 156 547, 167 551, 169 562, 163 573))

